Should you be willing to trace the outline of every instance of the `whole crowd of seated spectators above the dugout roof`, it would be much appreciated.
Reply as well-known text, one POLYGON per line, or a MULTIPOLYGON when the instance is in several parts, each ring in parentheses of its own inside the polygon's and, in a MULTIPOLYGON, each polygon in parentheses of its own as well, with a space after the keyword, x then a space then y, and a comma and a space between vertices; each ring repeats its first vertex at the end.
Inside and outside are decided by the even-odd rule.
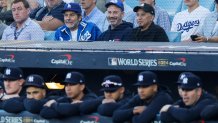
POLYGON ((161 0, 138 0, 134 1, 138 2, 134 8, 128 5, 131 3, 128 0, 107 0, 102 5, 106 12, 98 9, 98 0, 66 2, 1 0, 1 40, 218 40, 217 0, 167 0, 166 3, 161 0))

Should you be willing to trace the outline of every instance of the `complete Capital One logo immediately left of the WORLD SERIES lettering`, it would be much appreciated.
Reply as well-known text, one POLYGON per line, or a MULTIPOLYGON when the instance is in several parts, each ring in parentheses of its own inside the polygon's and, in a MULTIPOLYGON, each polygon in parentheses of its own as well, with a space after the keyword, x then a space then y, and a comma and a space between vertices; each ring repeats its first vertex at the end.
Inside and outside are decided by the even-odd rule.
POLYGON ((71 54, 64 54, 59 55, 56 59, 51 59, 51 64, 56 65, 72 65, 72 55, 71 54))

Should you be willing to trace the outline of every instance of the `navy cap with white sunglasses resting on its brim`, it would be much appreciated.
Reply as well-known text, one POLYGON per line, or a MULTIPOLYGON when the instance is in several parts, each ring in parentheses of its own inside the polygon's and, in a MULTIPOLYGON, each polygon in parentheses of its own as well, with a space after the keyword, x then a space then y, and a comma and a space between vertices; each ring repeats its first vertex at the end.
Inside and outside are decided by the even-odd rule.
POLYGON ((120 87, 123 87, 123 81, 117 75, 109 75, 104 78, 101 86, 101 91, 114 92, 120 87))

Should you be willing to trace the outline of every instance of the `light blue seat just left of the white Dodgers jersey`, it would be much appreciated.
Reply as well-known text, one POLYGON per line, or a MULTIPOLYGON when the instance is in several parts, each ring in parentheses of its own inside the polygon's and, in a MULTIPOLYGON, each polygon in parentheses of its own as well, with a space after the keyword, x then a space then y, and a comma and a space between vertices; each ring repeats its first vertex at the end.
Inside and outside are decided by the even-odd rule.
POLYGON ((174 15, 181 11, 182 3, 183 0, 156 0, 157 6, 165 9, 168 12, 171 22, 174 18, 174 15))

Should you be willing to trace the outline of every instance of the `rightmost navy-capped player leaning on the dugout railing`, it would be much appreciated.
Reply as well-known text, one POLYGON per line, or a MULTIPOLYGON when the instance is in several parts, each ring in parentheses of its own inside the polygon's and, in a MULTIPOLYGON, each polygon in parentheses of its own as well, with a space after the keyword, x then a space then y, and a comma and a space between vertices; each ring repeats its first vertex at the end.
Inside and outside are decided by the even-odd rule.
POLYGON ((191 72, 181 73, 182 100, 174 105, 165 105, 161 109, 161 121, 164 123, 190 123, 201 120, 200 113, 206 105, 215 102, 212 95, 204 92, 201 79, 191 72))

